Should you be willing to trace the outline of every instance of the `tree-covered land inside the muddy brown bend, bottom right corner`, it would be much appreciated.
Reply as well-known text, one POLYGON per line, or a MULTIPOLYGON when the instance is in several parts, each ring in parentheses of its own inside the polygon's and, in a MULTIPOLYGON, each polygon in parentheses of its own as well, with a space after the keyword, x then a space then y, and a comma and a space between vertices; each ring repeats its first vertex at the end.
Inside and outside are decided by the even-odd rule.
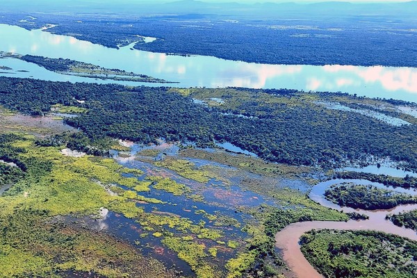
POLYGON ((301 251, 325 277, 411 278, 417 275, 417 242, 376 231, 312 230, 301 251))

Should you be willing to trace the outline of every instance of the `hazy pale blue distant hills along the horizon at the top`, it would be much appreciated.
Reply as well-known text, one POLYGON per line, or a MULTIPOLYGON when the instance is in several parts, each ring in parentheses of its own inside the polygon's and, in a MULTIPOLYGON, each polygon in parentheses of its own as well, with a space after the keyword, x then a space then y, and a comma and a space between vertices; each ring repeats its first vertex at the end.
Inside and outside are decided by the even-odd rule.
POLYGON ((167 3, 138 2, 132 0, 99 1, 99 0, 2 0, 0 10, 26 12, 66 12, 66 13, 101 13, 124 15, 186 15, 213 14, 243 18, 274 17, 346 17, 357 15, 386 15, 393 17, 416 17, 417 1, 402 3, 254 3, 238 2, 209 3, 195 0, 179 0, 167 3))

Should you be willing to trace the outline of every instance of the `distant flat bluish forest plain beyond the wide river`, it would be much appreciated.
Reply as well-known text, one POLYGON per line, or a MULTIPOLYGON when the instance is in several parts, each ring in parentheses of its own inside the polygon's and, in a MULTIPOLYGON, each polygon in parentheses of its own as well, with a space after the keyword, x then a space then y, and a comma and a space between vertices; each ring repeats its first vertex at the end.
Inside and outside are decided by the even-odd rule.
MULTIPOLYGON (((138 43, 136 49, 169 54, 198 54, 251 63, 291 65, 386 65, 415 67, 415 35, 404 24, 391 31, 386 18, 365 15, 336 20, 285 19, 229 20, 213 15, 156 15, 153 17, 83 17, 37 15, 33 22, 21 22, 21 14, 6 13, 0 22, 24 28, 49 29, 73 35, 106 47, 117 48, 137 41, 136 35, 158 38, 138 43), (374 20, 381 28, 374 27, 374 20), (81 23, 78 21, 82 21, 81 23), (401 51, 398 51, 401 49, 401 51), (372 54, 372 55, 371 55, 372 54)), ((390 18, 391 19, 391 18, 390 18)))

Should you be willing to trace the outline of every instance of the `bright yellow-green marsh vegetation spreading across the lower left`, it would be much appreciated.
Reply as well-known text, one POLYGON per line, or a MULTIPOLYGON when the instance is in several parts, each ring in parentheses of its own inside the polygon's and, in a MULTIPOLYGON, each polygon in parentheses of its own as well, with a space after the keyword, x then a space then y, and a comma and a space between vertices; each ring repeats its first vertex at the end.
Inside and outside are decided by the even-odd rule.
MULTIPOLYGON (((162 177, 149 177, 144 181, 138 181, 134 177, 124 177, 124 174, 139 176, 143 172, 124 168, 111 158, 63 156, 59 152, 63 146, 36 145, 33 136, 2 135, 1 142, 1 151, 7 154, 8 161, 15 161, 24 168, 24 173, 21 179, 13 179, 15 182, 13 187, 0 198, 0 221, 19 222, 21 224, 13 231, 17 234, 26 234, 26 237, 17 237, 17 234, 6 233, 1 237, 6 248, 0 256, 2 273, 8 274, 9 277, 19 275, 50 277, 54 276, 55 272, 80 270, 92 271, 107 277, 122 275, 156 277, 159 273, 165 272, 160 262, 150 259, 147 263, 142 263, 145 257, 134 248, 125 248, 128 246, 126 243, 106 236, 105 233, 95 234, 96 232, 89 229, 80 230, 71 224, 53 221, 58 215, 96 215, 99 208, 104 207, 122 213, 127 218, 133 218, 144 230, 152 231, 152 234, 161 237, 161 243, 177 252, 179 259, 189 263, 198 277, 224 275, 220 274, 213 262, 207 261, 209 257, 215 259, 213 254, 217 254, 215 250, 218 248, 231 249, 238 245, 233 243, 229 244, 232 246, 229 247, 223 243, 229 240, 224 238, 221 229, 210 229, 206 227, 204 221, 196 224, 177 215, 145 213, 141 206, 136 205, 135 201, 162 202, 139 194, 148 192, 154 182, 156 182, 155 189, 174 194, 188 193, 189 189, 186 186, 162 177), (134 188, 136 192, 123 190, 115 184, 134 188), (27 211, 28 208, 30 211, 27 211), (33 222, 22 222, 21 217, 30 218, 33 222), (172 229, 175 234, 172 233, 172 229), (65 235, 62 239, 59 234, 61 230, 65 235), (68 238, 68 233, 73 237, 68 238), (32 247, 28 246, 31 238, 27 236, 37 237, 32 247), (99 240, 92 240, 93 236, 99 236, 99 240), (182 240, 182 237, 185 239, 182 240), (50 246, 48 240, 58 243, 50 246), (61 241, 65 244, 61 244, 61 241), (9 245, 17 249, 10 249, 9 245), (45 251, 45 246, 51 250, 45 251), (116 247, 118 249, 114 250, 116 247), (190 252, 195 250, 195 247, 198 247, 199 251, 190 252), (42 252, 36 252, 37 248, 42 252), (85 253, 85 248, 88 253, 85 253), (58 252, 60 252, 59 256, 58 252), (16 256, 21 256, 19 259, 21 268, 13 268, 16 256), (114 264, 118 265, 117 268, 112 266, 114 264)), ((8 167, 4 169, 2 177, 9 177, 10 169, 8 167)), ((216 219, 214 215, 204 211, 201 213, 210 221, 216 219)), ((226 218, 222 221, 224 224, 219 222, 219 227, 231 223, 227 222, 226 218)), ((173 274, 167 272, 161 277, 170 277, 170 275, 173 274)))

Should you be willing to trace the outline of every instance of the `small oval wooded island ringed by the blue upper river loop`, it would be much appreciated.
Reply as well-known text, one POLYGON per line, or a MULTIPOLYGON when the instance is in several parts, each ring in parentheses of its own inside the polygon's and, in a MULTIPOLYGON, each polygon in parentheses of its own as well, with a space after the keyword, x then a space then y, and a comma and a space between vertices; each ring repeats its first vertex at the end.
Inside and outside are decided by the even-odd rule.
POLYGON ((400 204, 417 204, 417 198, 409 194, 355 183, 334 184, 325 191, 325 197, 339 206, 366 210, 389 209, 400 204))

